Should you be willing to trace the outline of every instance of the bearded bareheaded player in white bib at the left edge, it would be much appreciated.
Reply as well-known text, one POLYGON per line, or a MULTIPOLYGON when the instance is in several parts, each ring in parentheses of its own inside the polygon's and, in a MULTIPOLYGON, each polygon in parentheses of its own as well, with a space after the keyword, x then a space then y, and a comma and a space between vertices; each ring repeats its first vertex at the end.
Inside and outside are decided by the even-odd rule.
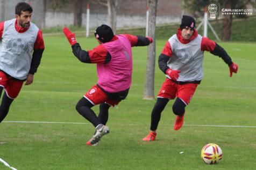
POLYGON ((41 30, 30 22, 32 11, 29 4, 20 2, 15 7, 16 19, 0 23, 0 97, 5 89, 0 122, 8 114, 23 82, 33 83, 45 48, 41 30))

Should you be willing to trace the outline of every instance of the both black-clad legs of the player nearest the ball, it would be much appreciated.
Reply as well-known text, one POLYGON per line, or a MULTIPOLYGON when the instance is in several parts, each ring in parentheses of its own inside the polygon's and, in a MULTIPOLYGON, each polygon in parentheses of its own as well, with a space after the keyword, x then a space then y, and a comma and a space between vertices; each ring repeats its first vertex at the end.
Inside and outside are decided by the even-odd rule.
MULTIPOLYGON (((154 108, 151 113, 151 125, 150 130, 157 130, 158 123, 161 118, 162 110, 165 109, 169 99, 166 98, 158 98, 157 102, 154 105, 154 108)), ((173 113, 175 115, 182 116, 185 112, 186 105, 180 98, 176 98, 173 104, 173 113)))

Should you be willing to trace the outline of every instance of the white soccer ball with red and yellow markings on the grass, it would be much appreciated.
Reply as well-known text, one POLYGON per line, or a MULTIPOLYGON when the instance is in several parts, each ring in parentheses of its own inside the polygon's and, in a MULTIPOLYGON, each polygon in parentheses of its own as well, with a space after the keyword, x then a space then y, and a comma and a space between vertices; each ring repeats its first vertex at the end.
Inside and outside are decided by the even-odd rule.
POLYGON ((206 164, 216 164, 222 159, 222 149, 214 143, 205 145, 201 157, 206 164))

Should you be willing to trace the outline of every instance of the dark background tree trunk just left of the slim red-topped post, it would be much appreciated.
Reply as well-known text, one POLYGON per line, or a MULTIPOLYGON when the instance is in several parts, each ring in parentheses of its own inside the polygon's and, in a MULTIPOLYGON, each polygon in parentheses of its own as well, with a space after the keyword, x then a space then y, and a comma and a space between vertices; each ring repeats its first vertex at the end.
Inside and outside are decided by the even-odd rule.
POLYGON ((74 0, 74 25, 82 26, 83 0, 74 0))

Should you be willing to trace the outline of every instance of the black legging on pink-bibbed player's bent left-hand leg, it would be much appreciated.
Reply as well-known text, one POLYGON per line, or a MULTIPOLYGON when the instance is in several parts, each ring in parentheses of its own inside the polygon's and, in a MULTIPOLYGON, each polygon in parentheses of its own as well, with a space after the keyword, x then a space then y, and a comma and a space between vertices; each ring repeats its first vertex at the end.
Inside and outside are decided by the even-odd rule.
POLYGON ((79 112, 85 119, 91 122, 94 127, 97 125, 102 124, 99 120, 94 111, 91 109, 94 105, 91 104, 86 98, 82 98, 76 105, 76 110, 79 112))

